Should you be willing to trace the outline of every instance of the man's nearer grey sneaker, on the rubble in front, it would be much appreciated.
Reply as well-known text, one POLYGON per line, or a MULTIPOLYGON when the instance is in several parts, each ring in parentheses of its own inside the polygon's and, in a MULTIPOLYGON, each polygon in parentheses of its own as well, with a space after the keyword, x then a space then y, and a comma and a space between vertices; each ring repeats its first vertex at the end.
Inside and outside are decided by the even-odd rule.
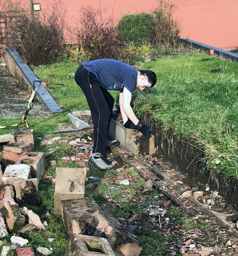
POLYGON ((109 164, 107 158, 104 157, 102 153, 97 152, 93 153, 88 159, 87 167, 90 168, 90 166, 96 167, 102 171, 115 170, 115 166, 109 164))

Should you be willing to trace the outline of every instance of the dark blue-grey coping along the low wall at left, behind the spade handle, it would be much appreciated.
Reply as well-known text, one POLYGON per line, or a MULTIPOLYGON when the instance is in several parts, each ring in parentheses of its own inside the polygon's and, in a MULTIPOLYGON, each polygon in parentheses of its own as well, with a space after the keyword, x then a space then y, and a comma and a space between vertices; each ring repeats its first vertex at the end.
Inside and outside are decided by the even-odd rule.
MULTIPOLYGON (((30 67, 25 63, 20 54, 13 47, 6 47, 5 50, 7 55, 9 55, 10 58, 12 59, 14 65, 20 69, 20 72, 22 73, 21 75, 24 76, 24 78, 26 79, 27 85, 33 88, 33 81, 38 79, 37 76, 34 74, 34 72, 30 69, 30 67)), ((36 83, 36 85, 39 85, 39 83, 36 83)), ((40 83, 38 88, 39 89, 36 91, 36 95, 38 96, 38 98, 40 98, 43 104, 46 107, 48 107, 48 109, 52 113, 62 112, 60 106, 57 104, 57 102, 54 100, 51 94, 47 91, 47 89, 43 86, 43 84, 40 83)))

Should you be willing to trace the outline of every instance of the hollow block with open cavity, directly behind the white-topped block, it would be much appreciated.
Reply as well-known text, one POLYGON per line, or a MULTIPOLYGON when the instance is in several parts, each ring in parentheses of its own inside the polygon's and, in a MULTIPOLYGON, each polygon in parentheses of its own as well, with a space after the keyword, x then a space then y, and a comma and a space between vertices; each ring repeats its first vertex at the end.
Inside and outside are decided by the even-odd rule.
POLYGON ((45 157, 43 152, 23 152, 15 164, 27 164, 31 167, 31 177, 38 182, 45 173, 45 157))

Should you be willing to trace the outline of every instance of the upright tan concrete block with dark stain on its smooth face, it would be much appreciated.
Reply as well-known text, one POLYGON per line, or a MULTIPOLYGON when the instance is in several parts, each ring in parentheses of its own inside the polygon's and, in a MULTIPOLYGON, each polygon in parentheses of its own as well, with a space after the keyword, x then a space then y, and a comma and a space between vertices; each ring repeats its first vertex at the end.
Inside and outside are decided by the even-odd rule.
POLYGON ((86 168, 56 168, 55 214, 61 215, 60 201, 84 197, 86 168))

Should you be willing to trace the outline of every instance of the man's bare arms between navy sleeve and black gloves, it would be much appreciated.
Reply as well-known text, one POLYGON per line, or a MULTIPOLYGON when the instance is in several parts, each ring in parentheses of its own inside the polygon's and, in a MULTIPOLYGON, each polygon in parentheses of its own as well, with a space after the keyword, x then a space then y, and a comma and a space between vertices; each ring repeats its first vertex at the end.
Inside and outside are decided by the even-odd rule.
MULTIPOLYGON (((120 92, 120 96, 121 96, 121 92, 120 92)), ((119 104, 120 104, 120 96, 119 96, 119 104)), ((132 123, 134 125, 137 125, 139 122, 139 119, 134 114, 130 103, 131 103, 131 92, 126 87, 124 87, 122 92, 122 108, 121 108, 121 105, 120 105, 120 108, 124 112, 124 114, 132 121, 132 123)), ((123 123, 125 123, 124 119, 123 119, 123 123)))

